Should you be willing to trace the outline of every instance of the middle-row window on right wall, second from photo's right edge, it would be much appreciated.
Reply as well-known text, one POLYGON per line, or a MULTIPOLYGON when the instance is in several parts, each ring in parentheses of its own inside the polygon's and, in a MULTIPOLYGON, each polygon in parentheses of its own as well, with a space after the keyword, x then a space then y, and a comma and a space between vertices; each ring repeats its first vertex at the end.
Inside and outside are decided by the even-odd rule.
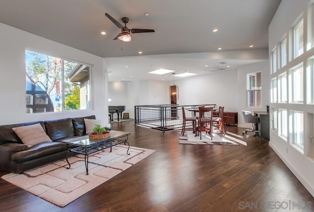
POLYGON ((289 70, 289 102, 303 103, 303 64, 289 70))

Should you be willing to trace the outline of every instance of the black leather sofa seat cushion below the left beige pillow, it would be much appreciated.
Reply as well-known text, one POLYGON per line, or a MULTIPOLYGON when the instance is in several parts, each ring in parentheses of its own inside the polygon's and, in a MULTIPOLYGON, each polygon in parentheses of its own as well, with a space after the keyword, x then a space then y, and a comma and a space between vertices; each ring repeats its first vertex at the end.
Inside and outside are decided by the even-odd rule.
POLYGON ((12 161, 15 163, 23 163, 35 158, 51 155, 56 152, 61 152, 67 149, 67 145, 61 142, 46 142, 33 145, 29 149, 21 152, 13 153, 11 156, 12 161))

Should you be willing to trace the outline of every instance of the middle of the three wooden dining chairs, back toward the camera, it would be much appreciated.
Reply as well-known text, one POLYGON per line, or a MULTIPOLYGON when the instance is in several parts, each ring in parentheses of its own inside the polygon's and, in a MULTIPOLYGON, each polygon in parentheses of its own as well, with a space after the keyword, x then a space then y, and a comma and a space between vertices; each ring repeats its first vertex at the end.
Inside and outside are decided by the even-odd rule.
POLYGON ((199 108, 198 132, 200 134, 200 140, 202 140, 202 131, 207 132, 212 140, 212 110, 212 107, 199 108))

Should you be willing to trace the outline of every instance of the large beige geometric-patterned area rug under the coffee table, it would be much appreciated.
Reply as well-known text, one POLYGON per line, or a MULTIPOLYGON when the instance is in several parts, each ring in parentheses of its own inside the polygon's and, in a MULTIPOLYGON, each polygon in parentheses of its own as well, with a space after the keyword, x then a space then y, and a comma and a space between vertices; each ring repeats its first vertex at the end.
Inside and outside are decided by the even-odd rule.
POLYGON ((89 155, 88 173, 83 155, 69 158, 71 168, 65 160, 56 161, 26 171, 22 174, 6 174, 1 178, 35 194, 57 206, 64 207, 87 191, 105 183, 132 165, 143 160, 155 150, 117 145, 89 155))

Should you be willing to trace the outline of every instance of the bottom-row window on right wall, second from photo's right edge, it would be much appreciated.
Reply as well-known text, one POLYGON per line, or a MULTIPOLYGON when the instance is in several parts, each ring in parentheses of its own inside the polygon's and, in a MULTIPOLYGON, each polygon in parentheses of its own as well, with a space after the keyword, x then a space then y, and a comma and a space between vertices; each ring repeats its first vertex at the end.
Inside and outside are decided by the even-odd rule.
POLYGON ((289 135, 292 144, 296 144, 296 147, 304 147, 304 124, 303 124, 303 112, 290 111, 289 115, 289 135))

